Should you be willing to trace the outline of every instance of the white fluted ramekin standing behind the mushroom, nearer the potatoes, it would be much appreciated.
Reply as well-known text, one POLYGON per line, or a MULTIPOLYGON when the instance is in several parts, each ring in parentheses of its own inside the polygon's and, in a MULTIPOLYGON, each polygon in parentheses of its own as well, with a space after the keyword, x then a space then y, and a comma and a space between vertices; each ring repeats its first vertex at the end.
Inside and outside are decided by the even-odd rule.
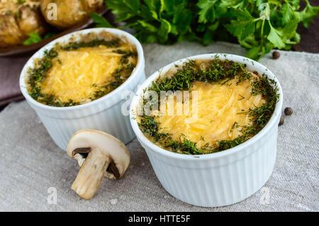
POLYGON ((82 129, 102 130, 114 135, 119 140, 127 143, 133 140, 135 134, 130 126, 128 115, 123 115, 121 111, 124 97, 124 91, 136 91, 138 84, 145 80, 145 60, 142 50, 142 45, 133 35, 126 33, 123 30, 112 28, 92 28, 80 30, 75 33, 70 33, 57 40, 45 45, 45 47, 35 52, 35 54, 28 60, 23 67, 20 77, 20 88, 23 96, 30 104, 30 106, 38 114, 40 120, 45 125, 47 132, 49 132, 52 140, 62 149, 67 149, 67 143, 74 132, 82 129), (86 103, 79 106, 58 108, 46 106, 30 97, 26 89, 25 76, 28 68, 33 67, 33 62, 36 58, 43 57, 44 51, 51 49, 55 43, 64 43, 74 35, 86 34, 90 32, 99 33, 105 30, 108 33, 118 35, 118 37, 125 37, 136 46, 138 51, 138 64, 133 70, 130 77, 117 89, 110 94, 103 96, 96 101, 86 103))

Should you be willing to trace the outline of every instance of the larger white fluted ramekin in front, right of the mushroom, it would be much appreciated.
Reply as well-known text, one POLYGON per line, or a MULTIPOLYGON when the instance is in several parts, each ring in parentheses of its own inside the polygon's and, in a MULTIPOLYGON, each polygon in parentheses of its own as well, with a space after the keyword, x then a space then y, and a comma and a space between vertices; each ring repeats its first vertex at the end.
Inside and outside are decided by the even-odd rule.
POLYGON ((278 123, 281 117, 283 94, 274 74, 258 62, 237 55, 218 54, 221 60, 233 60, 247 65, 250 71, 267 74, 279 88, 279 101, 267 125, 250 140, 223 152, 205 155, 186 155, 169 152, 143 135, 136 121, 136 109, 143 89, 160 74, 188 59, 213 59, 216 54, 198 55, 167 65, 150 76, 138 89, 130 106, 130 123, 162 186, 172 196, 186 203, 217 207, 237 203, 259 190, 274 169, 278 123))

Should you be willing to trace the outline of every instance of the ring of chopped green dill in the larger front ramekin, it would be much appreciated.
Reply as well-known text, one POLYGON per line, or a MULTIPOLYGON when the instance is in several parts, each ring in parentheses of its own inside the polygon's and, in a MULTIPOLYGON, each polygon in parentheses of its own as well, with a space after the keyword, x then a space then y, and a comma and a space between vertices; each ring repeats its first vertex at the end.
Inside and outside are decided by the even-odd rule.
MULTIPOLYGON (((177 72, 172 76, 164 76, 153 81, 147 90, 156 91, 157 94, 160 94, 160 91, 190 89, 193 81, 211 83, 229 81, 230 79, 235 78, 237 79, 237 84, 239 84, 244 80, 252 79, 252 74, 245 69, 245 64, 229 60, 222 61, 219 60, 218 57, 211 60, 211 62, 209 62, 209 67, 206 69, 202 69, 200 64, 190 60, 179 67, 177 72)), ((223 82, 223 84, 225 83, 223 82)), ((230 132, 233 132, 235 128, 240 128, 241 135, 233 140, 216 140, 216 147, 209 147, 209 143, 206 143, 206 145, 203 145, 202 147, 197 147, 196 142, 188 140, 185 135, 181 135, 179 141, 173 140, 172 135, 169 133, 159 132, 159 123, 155 116, 140 116, 140 123, 138 123, 138 125, 142 132, 147 135, 152 142, 155 142, 157 145, 169 149, 172 152, 181 154, 209 154, 230 149, 242 144, 242 142, 245 142, 246 140, 249 140, 251 137, 256 135, 257 132, 262 130, 272 117, 272 113, 276 107, 279 94, 276 94, 278 89, 274 80, 267 78, 267 76, 263 74, 259 81, 252 79, 251 86, 251 94, 262 94, 262 96, 267 100, 267 103, 263 103, 262 106, 259 107, 250 108, 247 111, 242 111, 242 114, 247 114, 249 116, 252 125, 240 126, 237 122, 235 122, 230 128, 230 132)), ((145 89, 145 91, 147 90, 145 89)), ((245 98, 244 96, 241 97, 245 98)), ((145 106, 146 101, 144 101, 143 104, 145 106)), ((201 137, 201 140, 203 141, 203 137, 201 137)))

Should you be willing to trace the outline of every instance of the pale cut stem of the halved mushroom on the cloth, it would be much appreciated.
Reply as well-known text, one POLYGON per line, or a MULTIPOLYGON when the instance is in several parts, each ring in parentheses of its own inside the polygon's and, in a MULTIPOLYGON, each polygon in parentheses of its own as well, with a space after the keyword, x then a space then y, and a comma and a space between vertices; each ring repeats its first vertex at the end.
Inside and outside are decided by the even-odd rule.
POLYGON ((77 178, 72 184, 72 189, 79 196, 91 199, 101 186, 103 176, 111 163, 111 158, 101 152, 89 152, 82 164, 77 178))

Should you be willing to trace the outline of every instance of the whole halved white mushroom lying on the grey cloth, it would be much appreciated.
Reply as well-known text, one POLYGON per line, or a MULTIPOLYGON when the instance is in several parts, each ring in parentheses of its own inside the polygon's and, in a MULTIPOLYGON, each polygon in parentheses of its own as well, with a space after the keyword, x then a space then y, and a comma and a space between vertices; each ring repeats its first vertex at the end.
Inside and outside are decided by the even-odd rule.
POLYGON ((85 199, 94 196, 103 176, 121 179, 130 164, 130 154, 123 142, 97 130, 76 132, 69 140, 67 154, 81 166, 72 189, 85 199))

